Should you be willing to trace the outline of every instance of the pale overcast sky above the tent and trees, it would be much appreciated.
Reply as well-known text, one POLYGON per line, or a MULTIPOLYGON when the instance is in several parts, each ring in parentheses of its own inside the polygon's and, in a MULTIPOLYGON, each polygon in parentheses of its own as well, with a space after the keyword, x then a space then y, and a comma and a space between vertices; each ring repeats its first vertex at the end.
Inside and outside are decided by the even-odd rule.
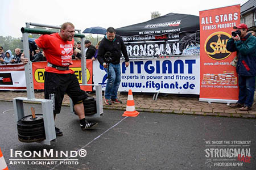
POLYGON ((199 16, 199 11, 237 5, 247 0, 1 0, 0 36, 22 37, 26 22, 61 25, 72 22, 76 29, 125 27, 150 20, 152 11, 199 16))

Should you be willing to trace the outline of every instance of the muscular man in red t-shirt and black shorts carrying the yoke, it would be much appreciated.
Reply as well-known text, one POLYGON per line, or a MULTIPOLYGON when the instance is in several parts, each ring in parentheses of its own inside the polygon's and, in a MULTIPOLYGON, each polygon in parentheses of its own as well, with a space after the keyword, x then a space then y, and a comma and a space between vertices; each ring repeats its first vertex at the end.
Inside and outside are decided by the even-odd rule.
MULTIPOLYGON (((80 119, 82 130, 90 129, 97 125, 95 122, 85 120, 84 104, 82 101, 88 97, 82 91, 75 72, 69 69, 72 65, 72 54, 75 36, 75 26, 72 23, 61 25, 59 33, 42 35, 35 40, 36 45, 44 50, 47 59, 47 66, 44 80, 44 99, 53 101, 54 118, 60 113, 64 94, 67 93, 75 104, 75 111, 80 119)), ((23 63, 28 59, 21 57, 23 63)), ((63 135, 60 129, 55 128, 56 135, 63 135)))

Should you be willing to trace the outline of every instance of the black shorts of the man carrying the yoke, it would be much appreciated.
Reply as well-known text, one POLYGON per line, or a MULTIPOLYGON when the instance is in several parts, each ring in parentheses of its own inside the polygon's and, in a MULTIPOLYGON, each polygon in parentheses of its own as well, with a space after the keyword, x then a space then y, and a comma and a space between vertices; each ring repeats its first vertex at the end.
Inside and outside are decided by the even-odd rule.
POLYGON ((44 99, 53 101, 53 113, 60 113, 65 93, 71 97, 74 104, 86 99, 88 95, 81 90, 75 74, 57 74, 45 72, 44 99))

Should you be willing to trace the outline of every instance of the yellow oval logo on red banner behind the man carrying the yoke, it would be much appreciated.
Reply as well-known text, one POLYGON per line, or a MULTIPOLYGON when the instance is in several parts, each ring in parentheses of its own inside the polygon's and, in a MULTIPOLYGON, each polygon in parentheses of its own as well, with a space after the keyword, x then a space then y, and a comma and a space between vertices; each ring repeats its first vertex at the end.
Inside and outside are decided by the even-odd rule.
MULTIPOLYGON (((79 79, 79 83, 81 84, 82 83, 82 69, 81 67, 71 67, 71 69, 73 71, 75 71, 75 75, 77 77, 77 79, 79 79)), ((35 70, 35 80, 36 82, 38 83, 44 83, 44 72, 46 70, 44 69, 36 69, 35 70)), ((86 69, 86 78, 87 78, 87 82, 89 81, 90 79, 90 71, 88 69, 86 69)))

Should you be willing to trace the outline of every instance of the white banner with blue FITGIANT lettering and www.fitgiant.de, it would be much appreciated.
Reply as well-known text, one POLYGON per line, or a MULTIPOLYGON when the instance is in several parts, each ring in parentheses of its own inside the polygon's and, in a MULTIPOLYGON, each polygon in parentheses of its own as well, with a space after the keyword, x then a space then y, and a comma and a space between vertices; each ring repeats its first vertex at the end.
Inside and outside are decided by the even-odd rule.
MULTIPOLYGON (((199 56, 132 60, 129 67, 125 67, 125 62, 120 66, 118 91, 199 94, 199 56)), ((93 62, 94 84, 101 84, 103 90, 108 81, 107 72, 98 61, 93 62)))

